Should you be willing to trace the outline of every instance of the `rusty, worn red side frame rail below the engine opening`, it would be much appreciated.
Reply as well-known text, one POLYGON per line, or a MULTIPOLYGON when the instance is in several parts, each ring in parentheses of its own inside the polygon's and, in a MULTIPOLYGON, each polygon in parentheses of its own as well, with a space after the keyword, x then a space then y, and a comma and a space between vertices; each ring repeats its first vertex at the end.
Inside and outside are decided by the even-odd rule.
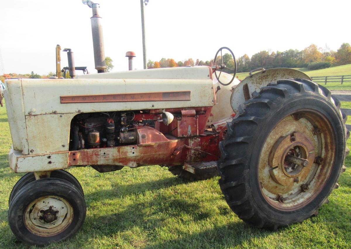
POLYGON ((219 157, 218 140, 219 135, 211 134, 151 144, 69 151, 68 165, 120 165, 136 168, 155 164, 213 161, 219 157), (173 155, 183 145, 192 149, 184 148, 173 155))

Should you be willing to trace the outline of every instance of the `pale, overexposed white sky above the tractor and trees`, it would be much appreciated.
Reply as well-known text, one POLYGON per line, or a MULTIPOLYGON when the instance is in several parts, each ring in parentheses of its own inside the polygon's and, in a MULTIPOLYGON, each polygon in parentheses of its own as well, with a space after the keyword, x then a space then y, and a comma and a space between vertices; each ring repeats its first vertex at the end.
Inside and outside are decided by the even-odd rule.
MULTIPOLYGON (((113 71, 143 69, 140 0, 96 0, 113 71)), ((145 6, 147 60, 213 59, 220 47, 238 58, 261 51, 337 50, 351 43, 351 1, 150 0, 145 6)), ((5 73, 55 72, 55 47, 71 48, 75 66, 94 69, 90 17, 81 0, 2 0, 0 49, 5 73)), ((67 55, 61 51, 61 65, 67 55)), ((80 72, 77 72, 79 74, 80 72)))

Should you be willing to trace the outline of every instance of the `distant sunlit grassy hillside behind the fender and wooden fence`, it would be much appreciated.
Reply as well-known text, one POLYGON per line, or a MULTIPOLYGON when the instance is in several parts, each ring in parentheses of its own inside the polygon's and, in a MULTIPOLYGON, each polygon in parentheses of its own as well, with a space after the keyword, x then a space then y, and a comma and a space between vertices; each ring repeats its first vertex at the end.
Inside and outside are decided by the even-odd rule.
MULTIPOLYGON (((314 76, 340 76, 340 75, 351 75, 351 64, 329 67, 319 70, 310 71, 307 68, 294 68, 306 73, 310 77, 314 76)), ((246 76, 249 76, 248 72, 237 73, 236 74, 240 80, 245 79, 246 76)), ((325 85, 330 90, 351 90, 351 82, 346 82, 343 85, 340 83, 327 83, 325 85)))

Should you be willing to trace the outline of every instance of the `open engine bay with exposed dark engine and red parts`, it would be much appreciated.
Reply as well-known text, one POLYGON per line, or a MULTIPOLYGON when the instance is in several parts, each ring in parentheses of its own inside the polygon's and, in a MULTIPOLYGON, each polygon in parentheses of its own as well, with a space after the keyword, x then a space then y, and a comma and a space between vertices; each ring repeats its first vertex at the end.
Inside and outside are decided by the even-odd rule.
POLYGON ((204 133, 211 107, 80 113, 69 150, 147 144, 204 133), (167 118, 165 118, 167 116, 167 118))

